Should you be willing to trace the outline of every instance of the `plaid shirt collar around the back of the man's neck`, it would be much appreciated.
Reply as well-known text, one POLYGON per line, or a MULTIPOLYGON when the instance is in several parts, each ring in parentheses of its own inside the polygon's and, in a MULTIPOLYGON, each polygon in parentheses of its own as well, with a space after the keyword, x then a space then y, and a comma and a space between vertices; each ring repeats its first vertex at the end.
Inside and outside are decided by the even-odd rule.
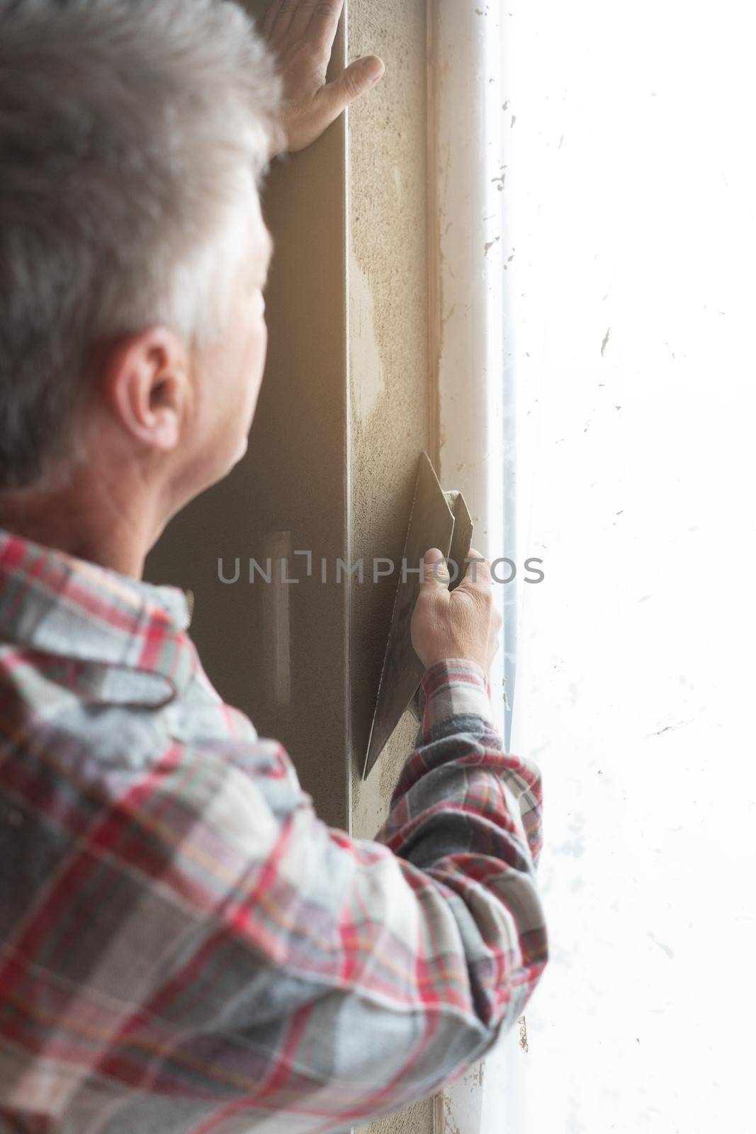
POLYGON ((178 587, 0 530, 0 638, 103 667, 102 700, 158 706, 182 693, 196 665, 188 625, 178 587))

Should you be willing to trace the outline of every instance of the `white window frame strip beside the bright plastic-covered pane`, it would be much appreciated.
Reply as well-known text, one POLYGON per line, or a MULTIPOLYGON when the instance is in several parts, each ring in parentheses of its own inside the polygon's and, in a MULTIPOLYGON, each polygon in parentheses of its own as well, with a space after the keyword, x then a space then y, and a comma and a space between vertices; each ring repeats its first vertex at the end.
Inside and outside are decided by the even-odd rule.
MULTIPOLYGON (((431 358, 438 361, 440 476, 459 489, 476 550, 511 558, 515 542, 513 357, 507 313, 503 215, 503 27, 498 3, 435 0, 428 15, 431 358)), ((496 567, 504 579, 506 564, 496 567)), ((516 576, 516 579, 518 576, 516 576)), ((496 722, 509 744, 517 663, 518 583, 496 585, 503 643, 491 672, 496 722), (499 692, 501 695, 499 695, 499 692)), ((435 1134, 518 1129, 519 1036, 510 1030, 483 1064, 435 1100, 435 1134)))

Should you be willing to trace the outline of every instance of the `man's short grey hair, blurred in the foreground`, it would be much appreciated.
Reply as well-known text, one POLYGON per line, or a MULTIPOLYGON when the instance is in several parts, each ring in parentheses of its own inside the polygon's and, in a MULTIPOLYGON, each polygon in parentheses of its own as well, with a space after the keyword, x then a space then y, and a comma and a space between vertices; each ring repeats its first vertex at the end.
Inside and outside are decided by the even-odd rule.
POLYGON ((97 345, 222 333, 279 100, 228 0, 0 0, 0 488, 66 454, 97 345))

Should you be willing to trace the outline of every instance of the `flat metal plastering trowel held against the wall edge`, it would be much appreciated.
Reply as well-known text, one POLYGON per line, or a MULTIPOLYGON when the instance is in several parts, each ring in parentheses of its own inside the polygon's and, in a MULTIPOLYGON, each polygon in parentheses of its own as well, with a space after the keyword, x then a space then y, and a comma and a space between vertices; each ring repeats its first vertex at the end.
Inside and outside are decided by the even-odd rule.
MULTIPOLYGON (((369 775, 402 713, 410 709, 419 720, 418 693, 425 667, 413 648, 409 623, 421 590, 417 570, 421 560, 428 548, 439 548, 453 560, 457 565, 456 577, 450 583, 453 590, 465 576, 465 559, 472 540, 473 522, 461 492, 443 491, 428 455, 423 452, 402 556, 407 570, 402 572, 400 565, 363 779, 369 775)), ((450 565, 451 575, 455 574, 453 564, 450 565)))

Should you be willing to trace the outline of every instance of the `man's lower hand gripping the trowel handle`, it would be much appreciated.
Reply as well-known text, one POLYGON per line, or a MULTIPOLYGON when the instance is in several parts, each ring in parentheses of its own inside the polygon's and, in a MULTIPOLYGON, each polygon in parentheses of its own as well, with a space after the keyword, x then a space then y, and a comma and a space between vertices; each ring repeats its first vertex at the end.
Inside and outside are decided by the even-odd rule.
POLYGON ((461 583, 450 591, 441 551, 431 548, 423 557, 423 583, 410 635, 426 669, 445 658, 466 658, 487 674, 499 649, 501 615, 493 603, 489 561, 473 548, 468 558, 475 562, 468 564, 461 583))

